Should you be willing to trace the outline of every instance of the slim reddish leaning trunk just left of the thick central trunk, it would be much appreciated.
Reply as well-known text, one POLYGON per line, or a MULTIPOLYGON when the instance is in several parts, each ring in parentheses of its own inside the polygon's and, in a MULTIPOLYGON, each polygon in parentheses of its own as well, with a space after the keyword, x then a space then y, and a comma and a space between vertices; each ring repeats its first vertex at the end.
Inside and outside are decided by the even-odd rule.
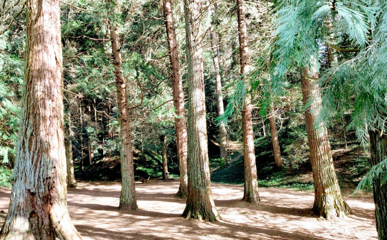
POLYGON ((182 74, 180 72, 179 51, 176 40, 175 26, 172 16, 172 6, 170 0, 164 0, 164 17, 166 24, 166 32, 168 39, 168 47, 170 54, 170 62, 172 69, 172 88, 173 88, 173 103, 176 108, 175 130, 177 155, 180 167, 180 186, 176 193, 177 197, 187 196, 187 126, 185 123, 184 112, 184 92, 182 74))

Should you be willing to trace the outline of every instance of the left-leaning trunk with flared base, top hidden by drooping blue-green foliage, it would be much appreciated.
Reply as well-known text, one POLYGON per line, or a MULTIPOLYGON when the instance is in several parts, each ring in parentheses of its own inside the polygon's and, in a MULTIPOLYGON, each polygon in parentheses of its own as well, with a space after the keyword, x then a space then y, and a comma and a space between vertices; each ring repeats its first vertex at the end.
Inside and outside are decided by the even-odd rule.
POLYGON ((319 123, 319 129, 314 127, 321 110, 321 93, 317 84, 319 75, 316 72, 309 74, 308 69, 301 69, 300 74, 304 105, 313 98, 312 103, 305 111, 315 189, 313 211, 328 219, 336 216, 347 216, 352 211, 341 196, 330 151, 327 127, 322 122, 319 123))

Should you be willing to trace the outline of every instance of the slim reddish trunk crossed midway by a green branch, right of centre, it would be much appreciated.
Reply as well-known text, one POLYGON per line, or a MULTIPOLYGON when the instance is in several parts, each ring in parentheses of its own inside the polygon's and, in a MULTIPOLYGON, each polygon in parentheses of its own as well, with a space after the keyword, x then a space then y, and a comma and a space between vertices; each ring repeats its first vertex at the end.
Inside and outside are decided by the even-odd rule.
MULTIPOLYGON (((243 10, 243 0, 236 0, 236 4, 238 7, 240 73, 241 75, 244 75, 249 71, 245 11, 243 10)), ((251 110, 251 96, 247 93, 242 110, 243 156, 245 158, 245 191, 243 194, 243 201, 256 203, 259 202, 259 194, 251 110)))

